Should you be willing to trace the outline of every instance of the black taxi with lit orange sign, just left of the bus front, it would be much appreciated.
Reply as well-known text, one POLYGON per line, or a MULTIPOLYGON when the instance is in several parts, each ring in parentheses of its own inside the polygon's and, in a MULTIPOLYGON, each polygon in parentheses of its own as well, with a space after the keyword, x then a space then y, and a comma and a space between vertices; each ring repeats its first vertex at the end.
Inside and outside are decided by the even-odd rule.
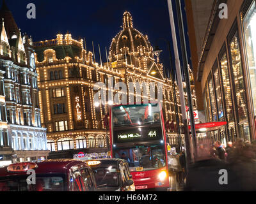
POLYGON ((128 163, 124 159, 93 159, 86 163, 93 170, 97 191, 135 191, 128 163))

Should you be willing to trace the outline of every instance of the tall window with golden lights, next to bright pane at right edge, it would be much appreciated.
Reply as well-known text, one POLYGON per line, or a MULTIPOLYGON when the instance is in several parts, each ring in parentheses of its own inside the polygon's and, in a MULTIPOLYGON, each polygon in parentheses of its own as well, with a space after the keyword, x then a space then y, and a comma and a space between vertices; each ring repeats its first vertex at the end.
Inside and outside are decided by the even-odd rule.
POLYGON ((241 55, 237 34, 234 35, 232 41, 230 42, 230 54, 232 61, 232 74, 235 85, 234 88, 236 91, 236 107, 239 118, 240 133, 244 140, 248 140, 248 138, 250 138, 249 126, 244 126, 244 122, 248 123, 248 110, 246 105, 246 92, 244 87, 243 69, 241 65, 241 55))

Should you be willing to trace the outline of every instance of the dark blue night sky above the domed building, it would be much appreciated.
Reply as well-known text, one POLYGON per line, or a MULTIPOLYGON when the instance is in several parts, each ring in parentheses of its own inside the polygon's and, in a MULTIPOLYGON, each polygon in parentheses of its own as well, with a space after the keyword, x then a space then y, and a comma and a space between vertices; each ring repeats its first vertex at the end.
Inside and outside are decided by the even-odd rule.
MULTIPOLYGON (((105 47, 109 50, 111 40, 121 30, 122 14, 129 11, 134 28, 148 35, 152 46, 158 38, 171 40, 171 28, 166 0, 6 0, 22 33, 32 36, 33 41, 51 40, 60 31, 77 39, 86 38, 86 48, 92 51, 95 45, 96 60, 99 62, 98 43, 102 61, 106 61, 105 47), (28 19, 27 4, 36 5, 36 19, 28 19)), ((164 51, 161 61, 170 66, 166 43, 160 40, 157 45, 164 51)))

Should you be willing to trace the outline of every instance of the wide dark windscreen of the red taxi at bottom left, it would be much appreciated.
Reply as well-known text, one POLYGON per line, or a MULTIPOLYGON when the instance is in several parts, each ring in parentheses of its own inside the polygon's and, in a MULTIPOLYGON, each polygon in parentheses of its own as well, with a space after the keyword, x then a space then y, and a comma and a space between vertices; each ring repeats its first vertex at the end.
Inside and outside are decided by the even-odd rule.
MULTIPOLYGON (((65 175, 36 175, 35 184, 28 184, 29 175, 0 177, 0 191, 66 191, 65 175)), ((32 180, 32 179, 30 179, 32 180)))

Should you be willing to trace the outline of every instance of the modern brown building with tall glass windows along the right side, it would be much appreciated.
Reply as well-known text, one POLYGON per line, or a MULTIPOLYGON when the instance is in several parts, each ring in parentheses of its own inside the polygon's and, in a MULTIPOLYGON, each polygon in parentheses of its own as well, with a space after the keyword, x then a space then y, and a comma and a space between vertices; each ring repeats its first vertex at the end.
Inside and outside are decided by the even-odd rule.
MULTIPOLYGON (((255 1, 209 3, 212 11, 200 45, 196 80, 201 83, 207 121, 227 121, 227 126, 210 136, 223 143, 237 138, 252 142, 256 122, 255 1), (227 4, 227 19, 219 17, 221 3, 227 4)), ((194 18, 196 8, 200 7, 193 8, 194 18)))

